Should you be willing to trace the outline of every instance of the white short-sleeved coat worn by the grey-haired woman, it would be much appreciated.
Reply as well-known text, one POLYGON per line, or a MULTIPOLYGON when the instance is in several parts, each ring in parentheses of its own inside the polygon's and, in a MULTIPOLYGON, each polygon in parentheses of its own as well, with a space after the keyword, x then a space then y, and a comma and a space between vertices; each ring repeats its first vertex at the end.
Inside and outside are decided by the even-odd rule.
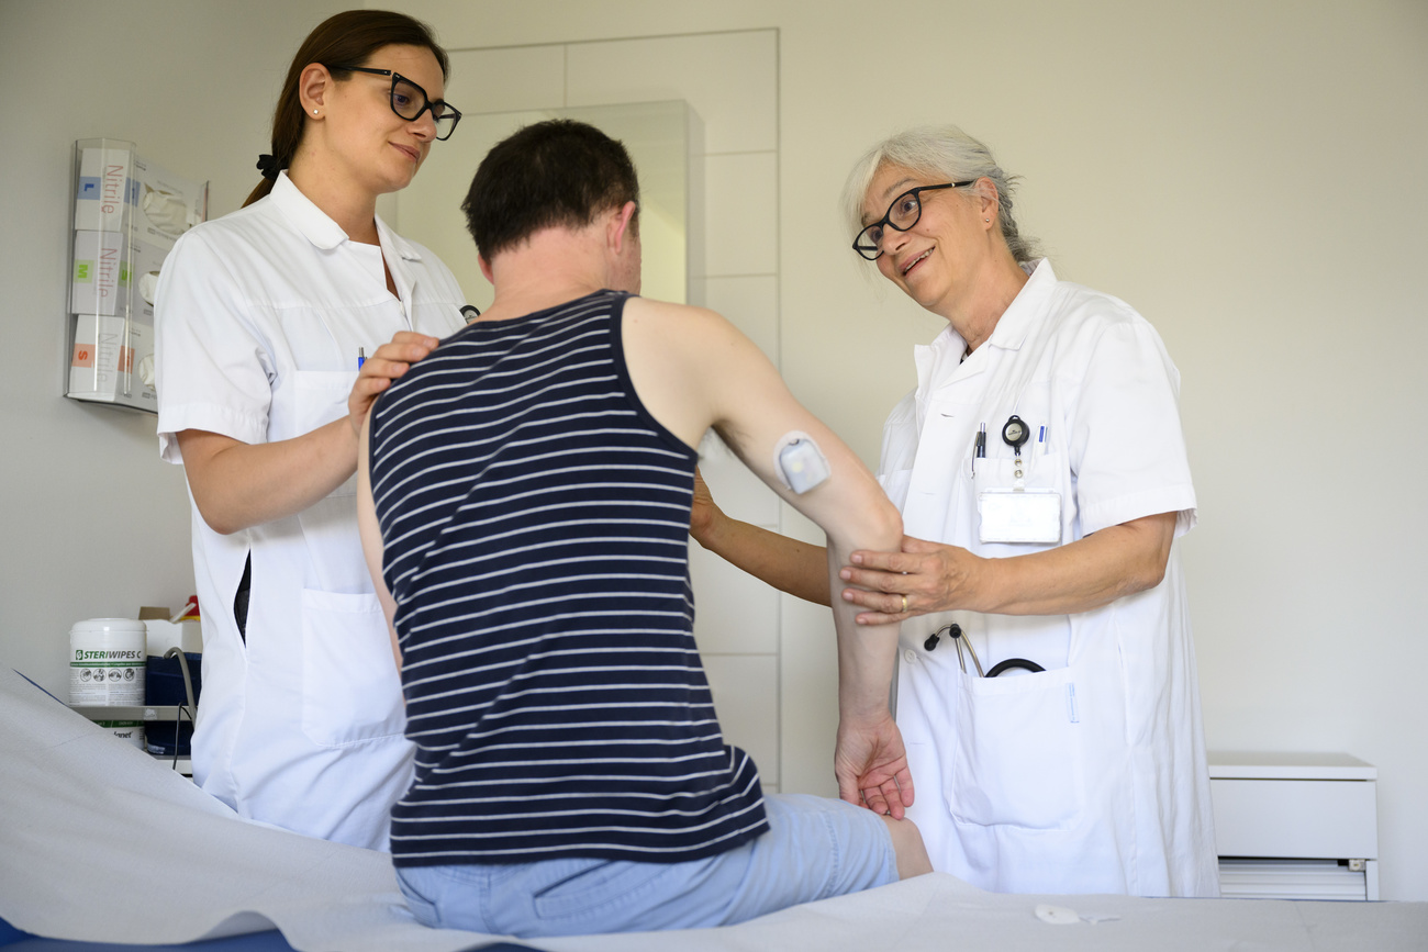
MULTIPOLYGON (((918 347, 917 390, 884 430, 880 481, 908 535, 992 558, 1050 548, 978 541, 978 492, 1012 484, 1012 414, 1031 428, 1025 485, 1061 494, 1061 544, 1158 512, 1178 514, 1177 538, 1194 525, 1180 375, 1127 304, 1041 261, 991 338, 962 351, 950 327, 918 347)), ((1218 895, 1175 547, 1160 585, 1095 611, 907 621, 897 719, 935 869, 1000 892, 1218 895), (947 635, 924 647, 951 621, 985 669, 1020 657, 1045 672, 978 678, 968 657, 962 674, 947 635)))

